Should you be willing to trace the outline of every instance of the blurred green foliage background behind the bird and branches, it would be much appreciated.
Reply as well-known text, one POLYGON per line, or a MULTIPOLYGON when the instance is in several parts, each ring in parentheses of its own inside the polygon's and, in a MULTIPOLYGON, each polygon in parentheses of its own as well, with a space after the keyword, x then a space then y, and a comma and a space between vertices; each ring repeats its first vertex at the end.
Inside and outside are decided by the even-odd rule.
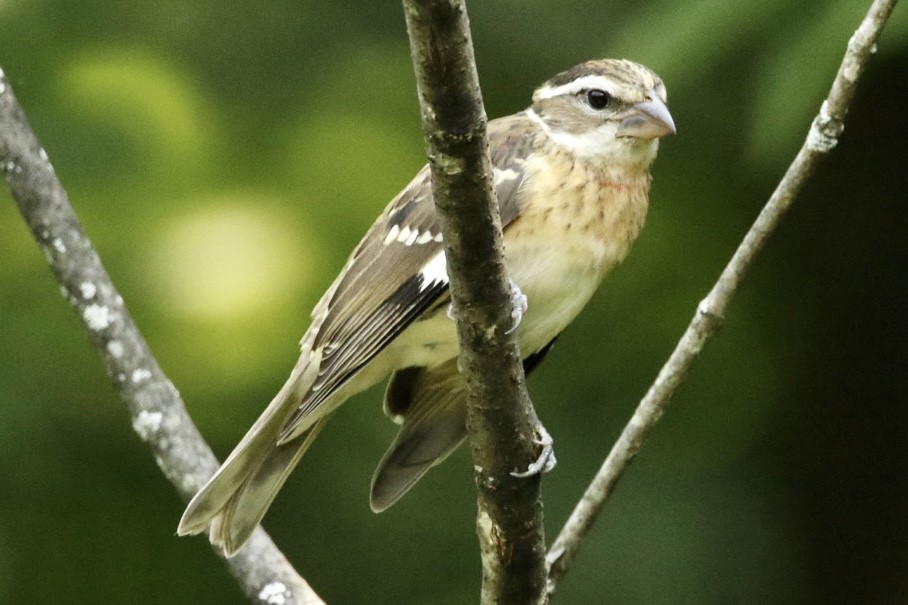
MULTIPOLYGON (((554 537, 803 140, 858 0, 470 5, 488 113, 585 59, 678 136, 628 261, 530 381, 554 537)), ((226 455, 423 163, 396 2, 0 0, 0 66, 132 313, 226 455)), ((908 602, 908 13, 621 482, 559 603, 908 602)), ((532 301, 531 301, 532 305, 532 301)), ((345 406, 265 526, 330 603, 477 601, 467 452, 367 505, 395 427, 345 406)), ((0 191, 0 602, 241 603, 0 191)))

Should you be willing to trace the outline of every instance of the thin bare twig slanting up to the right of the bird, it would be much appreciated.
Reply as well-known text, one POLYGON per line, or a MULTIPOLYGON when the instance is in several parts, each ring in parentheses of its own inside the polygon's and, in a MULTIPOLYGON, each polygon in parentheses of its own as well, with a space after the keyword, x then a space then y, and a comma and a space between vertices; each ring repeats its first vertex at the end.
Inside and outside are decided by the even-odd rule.
POLYGON ((807 133, 807 139, 789 166, 757 220, 722 271, 713 289, 697 307, 693 320, 656 381, 640 402, 618 441, 599 469, 561 533, 555 539, 546 562, 549 566, 549 592, 554 592, 571 561, 580 549, 582 538, 592 527, 611 495, 628 462, 634 457, 650 429, 665 411, 675 389, 684 380, 694 358, 718 330, 728 304, 753 265, 766 240, 813 174, 820 160, 838 143, 845 114, 854 96, 875 44, 897 0, 876 0, 848 43, 829 96, 820 107, 807 133))

